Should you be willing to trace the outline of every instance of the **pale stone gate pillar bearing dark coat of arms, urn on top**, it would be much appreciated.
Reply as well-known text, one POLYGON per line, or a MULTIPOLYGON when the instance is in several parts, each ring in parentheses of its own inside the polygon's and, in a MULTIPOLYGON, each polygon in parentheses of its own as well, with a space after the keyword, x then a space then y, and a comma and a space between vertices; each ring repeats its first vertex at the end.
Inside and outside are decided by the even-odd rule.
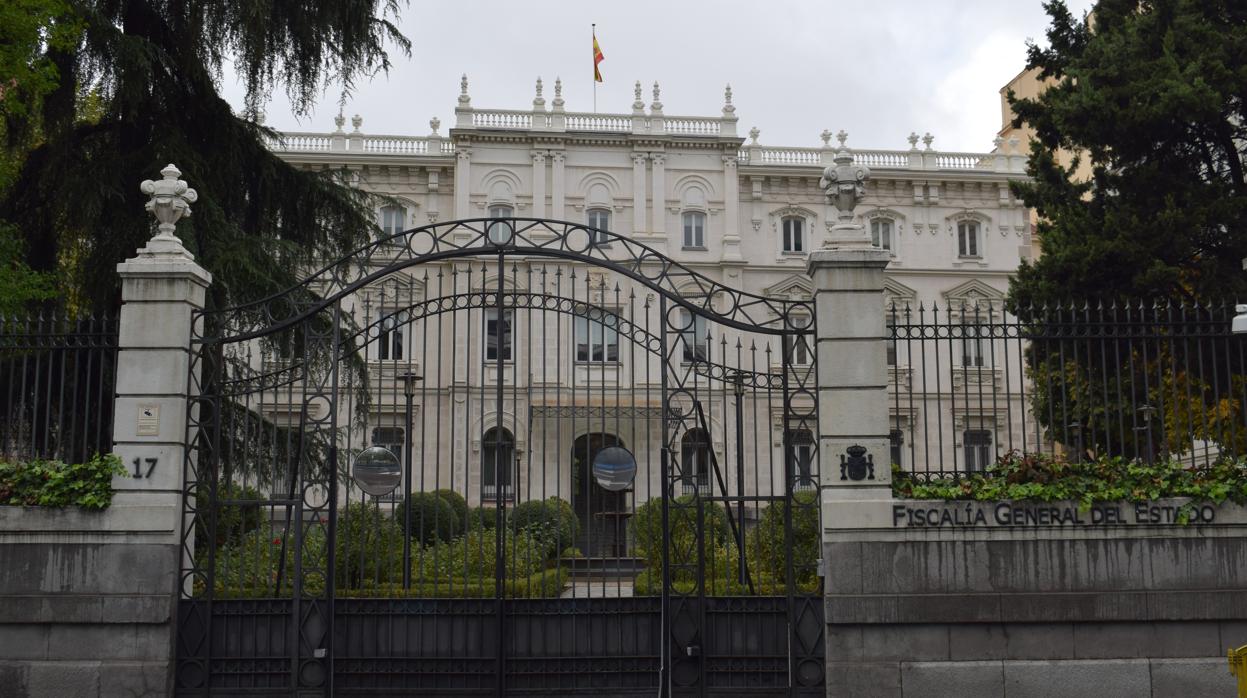
MULTIPOLYGON (((843 131, 838 137, 835 163, 827 167, 819 184, 828 204, 839 211, 839 222, 824 248, 809 256, 817 313, 821 568, 829 600, 862 591, 855 588, 860 586, 855 568, 860 560, 852 558, 854 535, 880 525, 892 511, 883 298, 883 270, 890 253, 873 247, 865 227, 853 221, 870 172, 853 165, 843 131)), ((832 638, 839 628, 831 611, 827 623, 826 647, 837 647, 832 638)), ((842 659, 827 656, 828 696, 893 694, 887 677, 863 681, 870 667, 845 666, 842 659)))

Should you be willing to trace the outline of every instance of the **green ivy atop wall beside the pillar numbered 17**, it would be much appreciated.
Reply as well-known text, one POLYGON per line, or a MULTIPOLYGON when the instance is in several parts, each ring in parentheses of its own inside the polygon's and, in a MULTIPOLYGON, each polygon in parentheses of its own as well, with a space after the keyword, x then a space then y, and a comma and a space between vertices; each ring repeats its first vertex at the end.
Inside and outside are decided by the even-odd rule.
POLYGON ((87 462, 0 461, 0 505, 107 509, 112 477, 125 475, 121 459, 96 454, 87 462))

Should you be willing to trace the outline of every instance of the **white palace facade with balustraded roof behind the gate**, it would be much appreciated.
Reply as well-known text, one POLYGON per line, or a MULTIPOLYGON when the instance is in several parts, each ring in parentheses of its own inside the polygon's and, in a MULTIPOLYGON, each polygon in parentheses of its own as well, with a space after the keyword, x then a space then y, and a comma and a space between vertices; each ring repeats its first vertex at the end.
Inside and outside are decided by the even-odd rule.
MULTIPOLYGON (((431 131, 424 136, 373 135, 364 130, 359 116, 350 120, 349 131, 339 116, 332 132, 283 133, 273 148, 297 167, 345 170, 358 187, 383 194, 377 211, 383 234, 484 217, 585 222, 643 242, 728 287, 791 299, 812 295, 807 257, 824 243, 837 217, 819 188, 819 177, 845 145, 843 132, 824 131, 822 143, 813 147, 764 145, 758 128, 738 128, 729 87, 721 111, 713 116, 666 115, 657 84, 648 105, 637 84, 631 110, 620 113, 567 111, 557 82, 547 102, 539 80, 530 107, 481 108, 469 96, 465 77, 449 132, 443 133, 434 118, 431 131)), ((930 135, 914 133, 908 137, 908 148, 853 148, 852 155, 855 163, 872 172, 855 216, 875 244, 892 252, 888 302, 898 309, 908 305, 917 310, 922 304, 943 310, 990 300, 988 312, 999 314, 1010 274, 1031 249, 1030 217, 1009 189, 1010 179, 1024 176, 1025 156, 1018 143, 998 142, 990 153, 941 152, 930 135)), ((370 315, 380 317, 421 298, 446 295, 449 289, 470 290, 490 274, 493 269, 481 261, 414 268, 405 280, 392 279, 352 312, 370 320, 370 315)), ((567 289, 579 284, 581 290, 572 293, 586 298, 599 283, 592 269, 565 261, 508 262, 506 274, 511 275, 508 283, 520 289, 549 290, 557 277, 567 289)), ((616 289, 614 278, 609 283, 605 294, 599 293, 604 304, 630 315, 645 305, 646 289, 626 283, 616 289)), ((516 333, 503 340, 501 350, 509 361, 504 378, 508 409, 498 415, 485 399, 493 395, 493 374, 481 368, 499 351, 493 322, 496 318, 486 317, 488 310, 476 312, 484 313, 480 323, 461 322, 455 329, 449 319, 445 324, 438 320, 441 334, 433 340, 434 348, 429 345, 429 332, 409 332, 402 323, 370 345, 370 375, 389 396, 375 400, 373 423, 358 430, 357 444, 402 451, 410 441, 418 452, 413 477, 420 477, 425 490, 434 485, 455 489, 465 492, 471 505, 488 505, 494 497, 513 499, 516 485, 531 492, 521 499, 569 499, 566 492, 579 486, 579 476, 551 464, 566 460, 565 455, 586 437, 594 441, 586 449, 625 442, 641 469, 635 501, 651 496, 652 471, 657 469, 651 454, 657 434, 653 415, 645 410, 653 408, 655 393, 637 398, 637 390, 653 386, 647 378, 652 366, 646 361, 626 363, 621 354, 630 349, 617 337, 612 344, 609 329, 597 335, 586 332, 581 327, 589 324, 585 320, 565 320, 550 334, 536 329, 531 320, 508 318, 505 324, 514 325, 516 333), (423 383, 414 399, 412 434, 407 434, 399 376, 413 366, 423 383), (434 375, 438 371, 450 375, 434 375), (612 396, 620 385, 630 390, 628 398, 612 396), (550 409, 555 404, 550 395, 555 393, 560 395, 559 405, 569 409, 550 409), (471 399, 474 394, 481 399, 471 399), (611 405, 619 409, 605 409, 611 405), (615 433, 609 423, 617 424, 621 415, 631 424, 615 433), (589 424, 599 419, 601 428, 589 424), (508 460, 518 462, 518 471, 495 476, 483 469, 481 462, 495 457, 493 449, 505 449, 508 460), (544 465, 525 465, 532 461, 544 465), (525 477, 539 477, 541 482, 525 482, 525 477)), ((726 338, 711 337, 708 343, 722 343, 728 353, 736 351, 726 338)), ((806 349, 794 351, 797 360, 806 349)), ((744 361, 766 360, 759 358, 762 349, 757 345, 754 351, 744 361)), ((958 351, 956 361, 973 364, 980 376, 985 368, 989 378, 980 380, 999 383, 1000 371, 981 363, 988 351, 975 351, 979 359, 958 351)), ((898 378, 892 390, 917 390, 923 368, 909 365, 913 360, 904 350, 892 354, 887 360, 898 378)), ((772 364, 778 363, 777 354, 771 356, 772 364)), ((897 441, 893 459, 920 470, 923 464, 912 460, 915 454, 920 459, 922 451, 908 444, 924 439, 918 426, 923 421, 934 424, 934 415, 920 414, 924 408, 915 408, 908 394, 894 395, 892 403, 897 441)), ((700 467, 698 447, 712 449, 720 464, 738 462, 731 408, 729 390, 708 396, 710 434, 700 436, 707 442, 693 444, 691 455, 681 456, 691 459, 692 467, 700 467)), ((941 447, 956 449, 956 461, 965 467, 981 467, 993 452, 1003 451, 1005 430, 1021 429, 1005 425, 998 419, 1000 410, 991 405, 946 404, 940 409, 946 411, 940 415, 944 429, 951 425, 956 434, 944 439, 941 447)), ((744 446, 752 471, 744 475, 749 481, 746 490, 776 487, 776 482, 758 482, 757 470, 762 462, 782 460, 778 451, 783 420, 766 405, 747 405, 746 414, 766 424, 746 431, 752 441, 744 446)), ((794 442, 812 444, 813 439, 803 435, 794 442)), ((727 486, 734 487, 736 471, 729 466, 723 470, 727 486)), ((576 509, 585 506, 611 505, 579 502, 576 509)))

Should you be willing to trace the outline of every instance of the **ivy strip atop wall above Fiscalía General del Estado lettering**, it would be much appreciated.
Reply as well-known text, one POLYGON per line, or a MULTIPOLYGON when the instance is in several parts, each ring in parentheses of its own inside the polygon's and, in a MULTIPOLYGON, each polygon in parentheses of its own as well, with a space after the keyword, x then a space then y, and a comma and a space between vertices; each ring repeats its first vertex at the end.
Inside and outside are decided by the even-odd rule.
POLYGON ((1074 462, 1045 454, 1010 451, 989 467, 963 480, 918 481, 893 469, 892 491, 919 500, 1077 501, 1084 510, 1100 501, 1142 502, 1161 497, 1192 497, 1247 502, 1247 461, 1225 459, 1207 469, 1180 461, 1147 465, 1139 460, 1102 457, 1074 462))

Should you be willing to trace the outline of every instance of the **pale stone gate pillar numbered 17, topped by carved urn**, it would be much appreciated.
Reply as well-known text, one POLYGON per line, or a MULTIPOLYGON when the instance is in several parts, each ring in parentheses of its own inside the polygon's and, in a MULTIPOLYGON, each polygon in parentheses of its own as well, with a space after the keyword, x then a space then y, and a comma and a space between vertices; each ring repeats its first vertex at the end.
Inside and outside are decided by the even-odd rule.
POLYGON ((192 313, 203 308, 212 275, 173 234, 177 219, 191 212, 195 189, 178 179, 181 172, 172 165, 161 174, 160 181, 142 183, 158 233, 136 257, 117 264, 122 307, 113 452, 126 474, 113 477, 106 532, 138 562, 127 565, 125 573, 127 587, 147 597, 142 618, 135 621, 143 624, 141 659, 148 674, 163 669, 171 691, 177 592, 190 583, 178 575, 182 557, 193 555, 193 535, 186 536, 187 547, 182 545, 191 322, 192 313))

